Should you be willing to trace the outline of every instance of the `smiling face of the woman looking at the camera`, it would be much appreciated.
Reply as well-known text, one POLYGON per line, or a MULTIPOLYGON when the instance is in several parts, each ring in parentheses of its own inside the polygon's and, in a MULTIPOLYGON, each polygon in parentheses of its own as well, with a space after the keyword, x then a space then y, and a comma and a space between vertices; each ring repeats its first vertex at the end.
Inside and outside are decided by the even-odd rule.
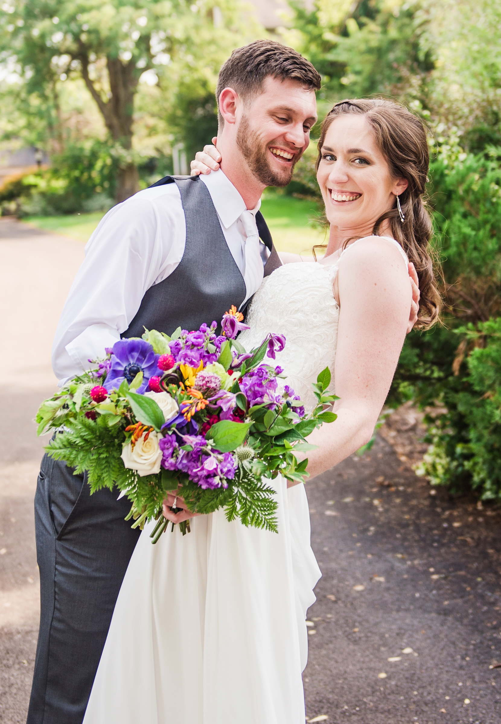
POLYGON ((369 122, 358 114, 343 114, 329 126, 316 180, 331 228, 353 235, 371 234, 408 185, 392 177, 369 122))

